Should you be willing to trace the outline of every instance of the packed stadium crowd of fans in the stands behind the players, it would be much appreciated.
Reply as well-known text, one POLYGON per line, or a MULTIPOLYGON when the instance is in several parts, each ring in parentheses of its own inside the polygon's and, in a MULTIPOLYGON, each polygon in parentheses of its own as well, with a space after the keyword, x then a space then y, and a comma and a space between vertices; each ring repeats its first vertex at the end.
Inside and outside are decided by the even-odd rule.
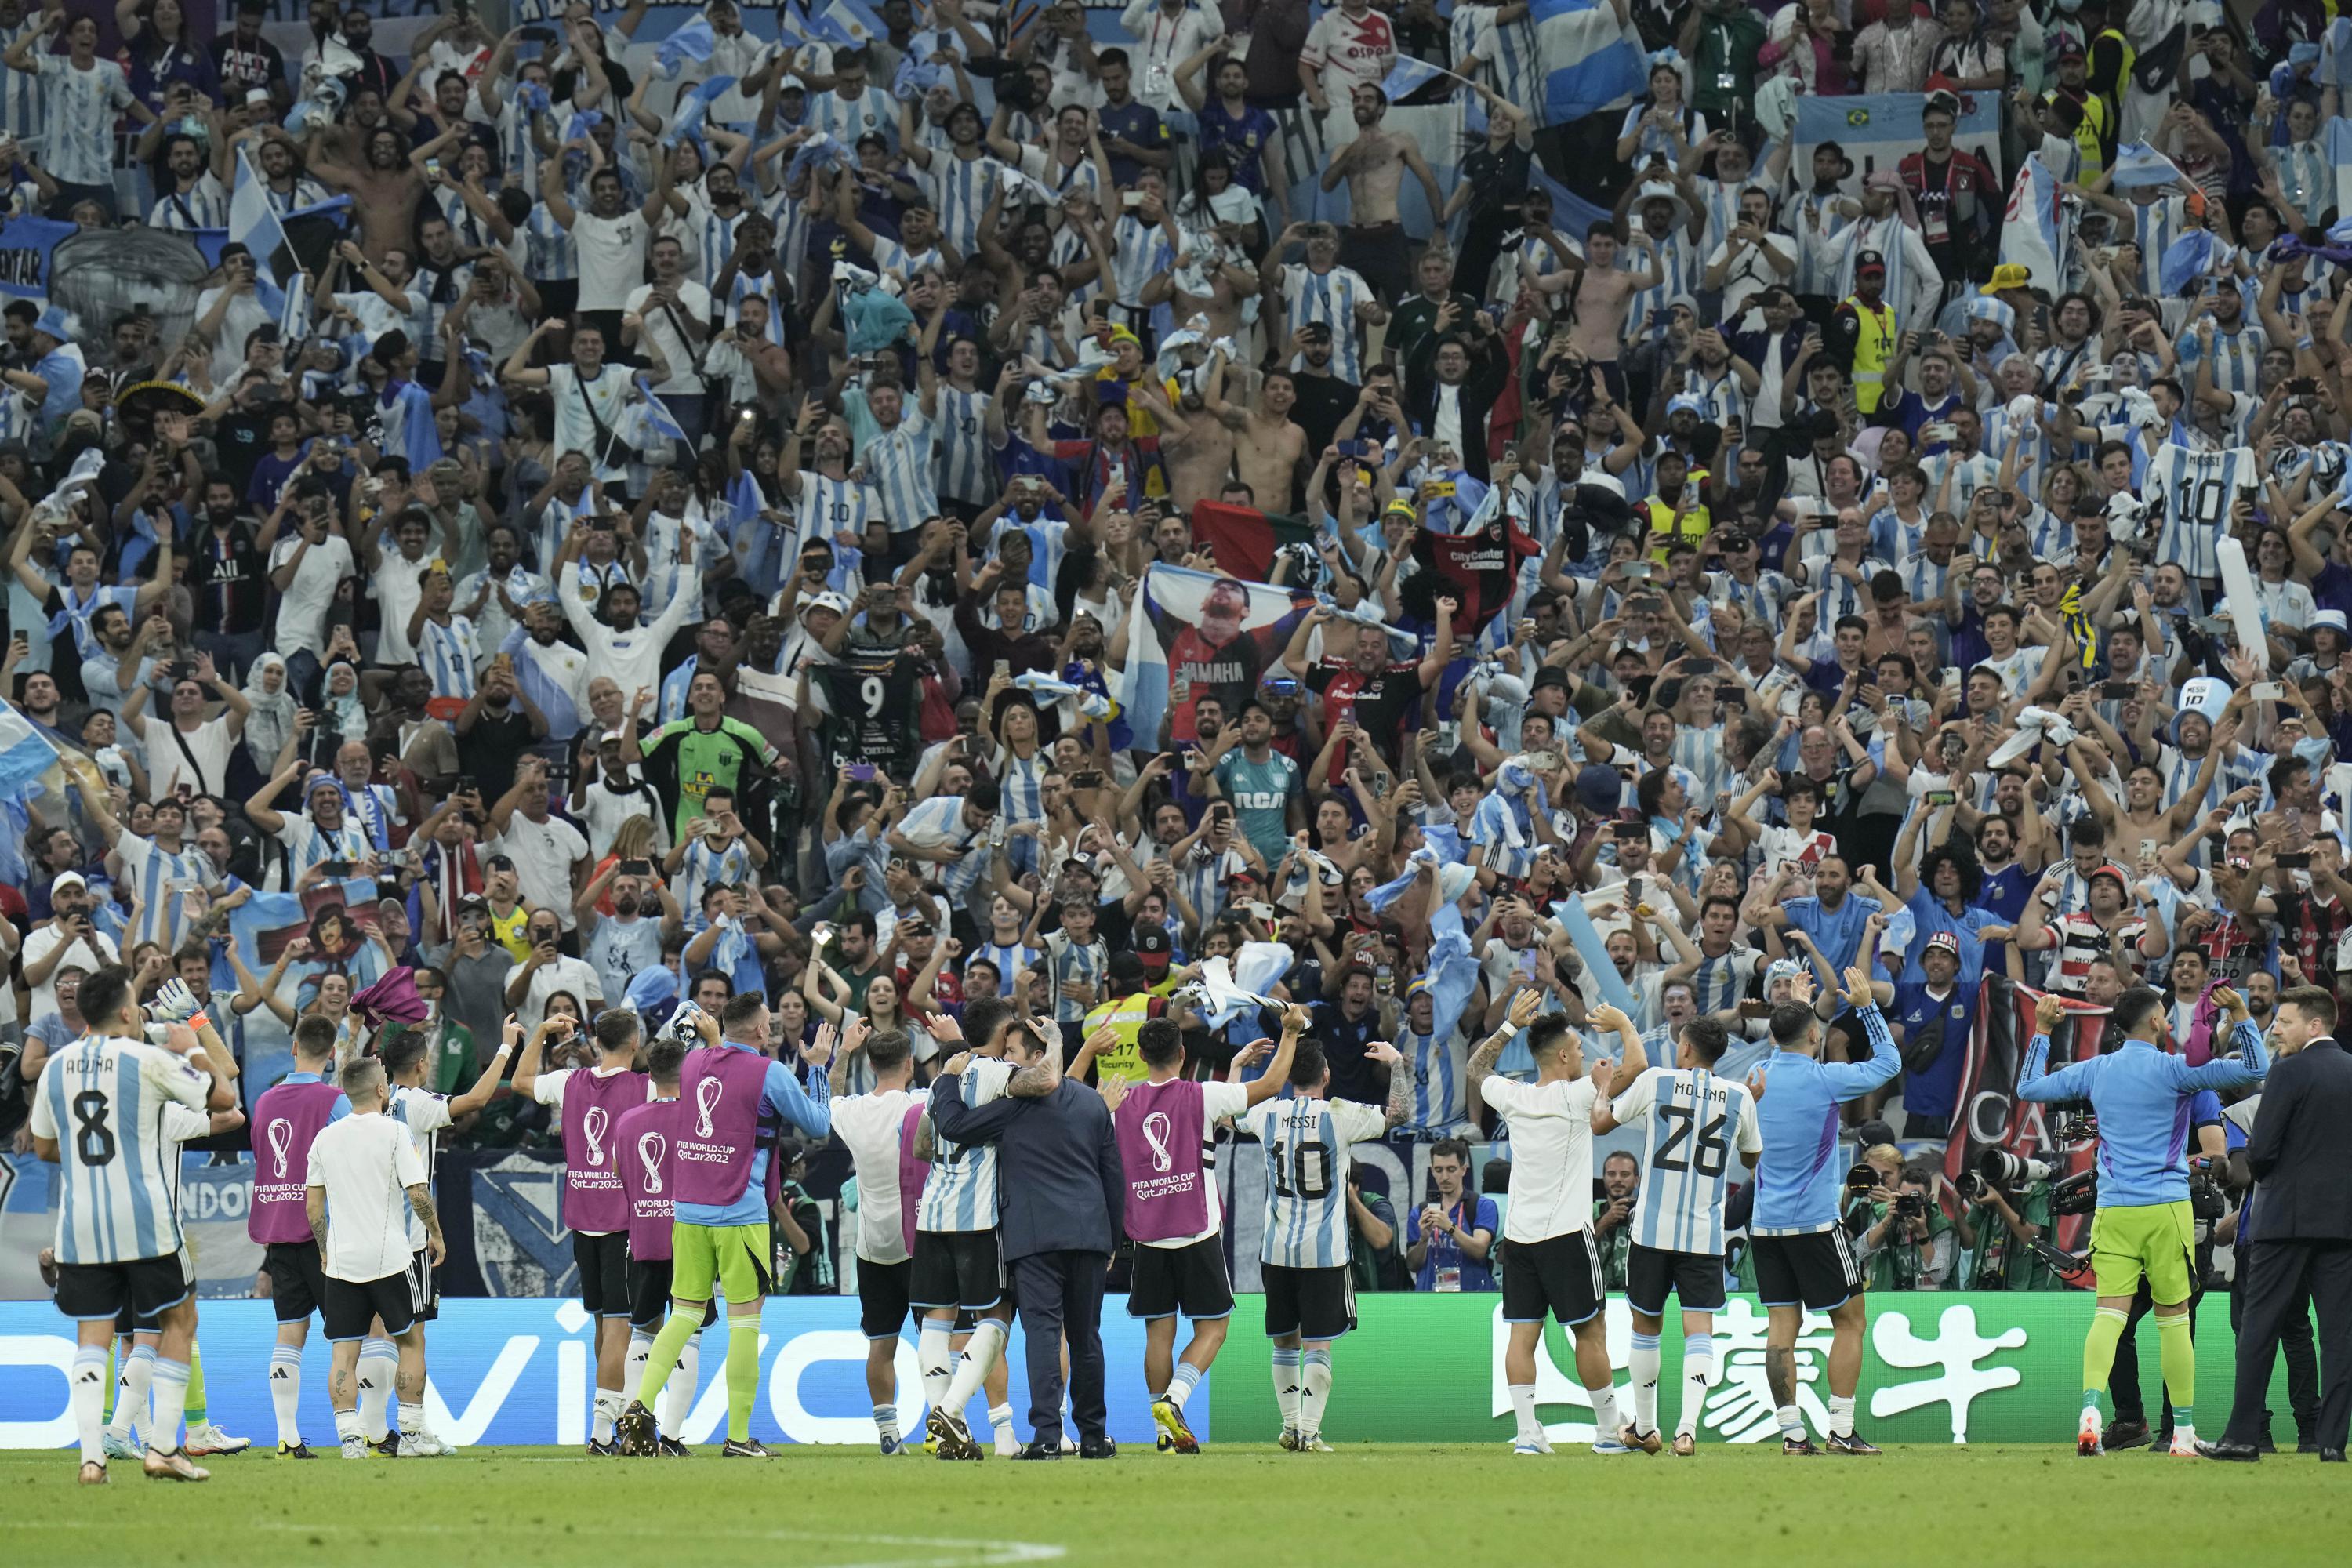
POLYGON ((1303 1004, 1435 1140, 1432 1201, 1350 1182, 1359 1284, 1494 1288, 1519 987, 1745 1079, 1792 994, 1867 1060, 1860 964, 1870 1284, 2058 1286, 2046 1180, 1893 1147, 1980 980, 2157 985, 2201 1060, 2352 938, 2326 14, 1613 5, 1642 92, 1559 122, 1477 0, 452 7, 407 59, 0 0, 16 212, 230 230, 176 317, 5 308, 0 665, 64 759, 0 802, 9 1121, 115 964, 233 1041, 419 1032, 492 1147, 564 1135, 510 1016, 555 1072, 764 994, 786 1065, 901 1032, 924 1084, 1002 999, 1117 1084, 1157 1018, 1251 1079, 1303 1004), (1799 160, 1799 94, 1924 141, 1799 160), (1482 127, 1451 188, 1399 103, 1482 127))

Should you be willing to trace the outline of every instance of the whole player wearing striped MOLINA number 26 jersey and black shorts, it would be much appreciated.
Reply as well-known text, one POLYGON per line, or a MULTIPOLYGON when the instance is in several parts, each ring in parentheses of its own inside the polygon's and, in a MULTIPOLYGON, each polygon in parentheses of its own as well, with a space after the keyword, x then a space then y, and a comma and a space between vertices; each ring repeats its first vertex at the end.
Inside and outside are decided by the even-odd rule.
POLYGON ((1731 1037, 1719 1018, 1693 1018, 1675 1041, 1675 1065, 1651 1067, 1592 1114, 1592 1131, 1649 1121, 1649 1159, 1635 1201, 1625 1305, 1632 1307, 1632 1425, 1618 1441, 1658 1453, 1658 1331, 1665 1293, 1682 1300, 1682 1415, 1675 1458, 1698 1453, 1698 1410, 1715 1368, 1715 1314, 1724 1309, 1724 1187, 1731 1152, 1755 1168, 1764 1152, 1755 1098, 1715 1077, 1731 1037))

